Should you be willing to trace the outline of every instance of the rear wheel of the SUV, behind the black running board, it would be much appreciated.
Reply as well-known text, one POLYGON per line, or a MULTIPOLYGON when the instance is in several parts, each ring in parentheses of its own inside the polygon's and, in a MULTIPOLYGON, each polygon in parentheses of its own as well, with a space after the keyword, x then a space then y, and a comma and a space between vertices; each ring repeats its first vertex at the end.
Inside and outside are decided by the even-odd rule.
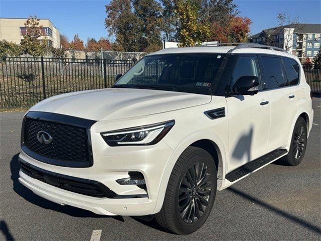
POLYGON ((283 158, 283 162, 289 166, 297 166, 302 162, 307 142, 307 130, 304 119, 300 116, 294 126, 291 145, 288 154, 283 158))

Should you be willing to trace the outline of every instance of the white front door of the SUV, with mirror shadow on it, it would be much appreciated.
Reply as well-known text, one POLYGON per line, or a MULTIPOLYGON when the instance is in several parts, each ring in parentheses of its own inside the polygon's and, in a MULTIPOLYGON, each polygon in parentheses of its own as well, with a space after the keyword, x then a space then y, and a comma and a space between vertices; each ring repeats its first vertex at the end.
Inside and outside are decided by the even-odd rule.
MULTIPOLYGON (((241 76, 261 79, 257 57, 240 56, 233 71, 232 84, 241 76)), ((261 82, 261 81, 260 81, 261 82)), ((262 86, 259 86, 261 89, 262 86)), ((227 173, 265 155, 270 126, 268 93, 237 95, 226 98, 229 125, 227 173)))

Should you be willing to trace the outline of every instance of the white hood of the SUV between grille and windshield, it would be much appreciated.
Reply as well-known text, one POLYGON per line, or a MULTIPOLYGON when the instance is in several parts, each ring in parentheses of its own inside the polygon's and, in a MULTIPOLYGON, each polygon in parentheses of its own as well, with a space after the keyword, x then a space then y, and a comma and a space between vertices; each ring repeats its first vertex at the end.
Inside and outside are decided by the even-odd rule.
POLYGON ((152 89, 106 88, 56 95, 34 105, 45 111, 102 121, 206 104, 210 95, 152 89))

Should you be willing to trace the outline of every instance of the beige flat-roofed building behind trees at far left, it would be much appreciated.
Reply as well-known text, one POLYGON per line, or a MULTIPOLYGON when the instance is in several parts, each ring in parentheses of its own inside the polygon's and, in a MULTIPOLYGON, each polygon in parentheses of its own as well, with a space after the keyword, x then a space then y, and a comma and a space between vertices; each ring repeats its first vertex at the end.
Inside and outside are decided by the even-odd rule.
MULTIPOLYGON (((0 40, 20 44, 26 33, 26 21, 27 19, 0 18, 0 40)), ((39 22, 43 26, 42 36, 39 39, 46 41, 48 46, 60 48, 59 30, 49 19, 40 19, 39 22)))

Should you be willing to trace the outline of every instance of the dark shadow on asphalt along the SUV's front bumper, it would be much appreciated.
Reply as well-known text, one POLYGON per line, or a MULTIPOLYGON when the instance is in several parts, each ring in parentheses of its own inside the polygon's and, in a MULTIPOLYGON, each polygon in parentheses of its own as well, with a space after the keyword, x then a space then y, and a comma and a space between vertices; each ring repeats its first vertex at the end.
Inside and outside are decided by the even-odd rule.
POLYGON ((18 178, 19 178, 19 170, 20 170, 20 164, 18 161, 19 153, 12 157, 12 160, 10 162, 10 170, 11 170, 11 179, 13 181, 13 190, 19 194, 21 197, 26 199, 28 202, 31 202, 37 206, 40 206, 45 209, 51 209, 58 212, 62 212, 65 214, 68 214, 70 216, 74 217, 96 217, 96 218, 114 218, 119 221, 124 221, 122 216, 104 216, 104 215, 98 215, 93 212, 83 210, 80 208, 72 207, 72 206, 62 206, 57 203, 51 202, 49 200, 46 200, 40 196, 37 196, 34 194, 31 190, 26 188, 24 185, 22 185, 18 178))

